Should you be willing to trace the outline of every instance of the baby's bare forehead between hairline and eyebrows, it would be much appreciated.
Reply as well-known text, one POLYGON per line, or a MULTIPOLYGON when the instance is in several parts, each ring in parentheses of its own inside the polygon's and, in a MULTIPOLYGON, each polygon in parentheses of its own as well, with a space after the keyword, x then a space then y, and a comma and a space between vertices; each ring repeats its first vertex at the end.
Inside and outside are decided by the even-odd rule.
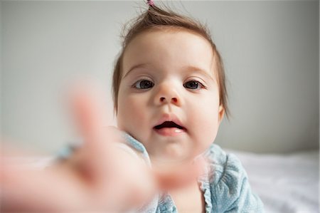
POLYGON ((128 43, 122 58, 124 73, 129 67, 149 63, 153 66, 202 66, 215 70, 213 46, 199 33, 185 28, 156 28, 139 33, 128 43))

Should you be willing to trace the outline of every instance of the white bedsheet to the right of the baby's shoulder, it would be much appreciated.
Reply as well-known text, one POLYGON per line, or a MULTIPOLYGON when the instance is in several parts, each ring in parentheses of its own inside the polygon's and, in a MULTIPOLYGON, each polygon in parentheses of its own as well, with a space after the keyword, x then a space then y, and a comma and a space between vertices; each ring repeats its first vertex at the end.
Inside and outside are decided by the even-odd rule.
POLYGON ((227 152, 240 158, 266 212, 319 212, 319 151, 290 155, 227 152))

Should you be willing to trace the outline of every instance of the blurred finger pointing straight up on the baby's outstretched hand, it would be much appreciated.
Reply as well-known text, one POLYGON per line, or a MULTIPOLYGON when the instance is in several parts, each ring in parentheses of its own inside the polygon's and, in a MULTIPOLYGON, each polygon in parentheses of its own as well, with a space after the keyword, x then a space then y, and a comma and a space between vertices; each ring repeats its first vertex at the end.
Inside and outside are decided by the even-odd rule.
POLYGON ((116 128, 107 127, 112 120, 107 114, 111 106, 104 100, 100 88, 92 83, 77 83, 70 90, 71 109, 84 140, 77 165, 87 177, 95 179, 107 175, 114 157, 112 143, 122 138, 116 128))

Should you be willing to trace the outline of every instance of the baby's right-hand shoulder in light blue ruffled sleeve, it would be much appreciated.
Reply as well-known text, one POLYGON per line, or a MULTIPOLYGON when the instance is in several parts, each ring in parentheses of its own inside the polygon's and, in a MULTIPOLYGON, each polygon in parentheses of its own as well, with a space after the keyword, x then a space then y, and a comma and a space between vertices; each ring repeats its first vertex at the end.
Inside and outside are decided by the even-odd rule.
POLYGON ((263 212, 263 204, 252 193, 247 173, 238 157, 211 145, 204 157, 208 161, 208 187, 215 212, 263 212))

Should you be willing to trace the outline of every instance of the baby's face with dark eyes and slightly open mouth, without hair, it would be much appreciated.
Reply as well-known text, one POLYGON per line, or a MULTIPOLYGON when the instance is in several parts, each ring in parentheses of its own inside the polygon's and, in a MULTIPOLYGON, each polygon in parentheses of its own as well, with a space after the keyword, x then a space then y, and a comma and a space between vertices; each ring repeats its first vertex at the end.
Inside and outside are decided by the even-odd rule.
POLYGON ((149 31, 124 53, 117 122, 154 160, 187 160, 215 140, 219 105, 210 43, 188 31, 149 31))

